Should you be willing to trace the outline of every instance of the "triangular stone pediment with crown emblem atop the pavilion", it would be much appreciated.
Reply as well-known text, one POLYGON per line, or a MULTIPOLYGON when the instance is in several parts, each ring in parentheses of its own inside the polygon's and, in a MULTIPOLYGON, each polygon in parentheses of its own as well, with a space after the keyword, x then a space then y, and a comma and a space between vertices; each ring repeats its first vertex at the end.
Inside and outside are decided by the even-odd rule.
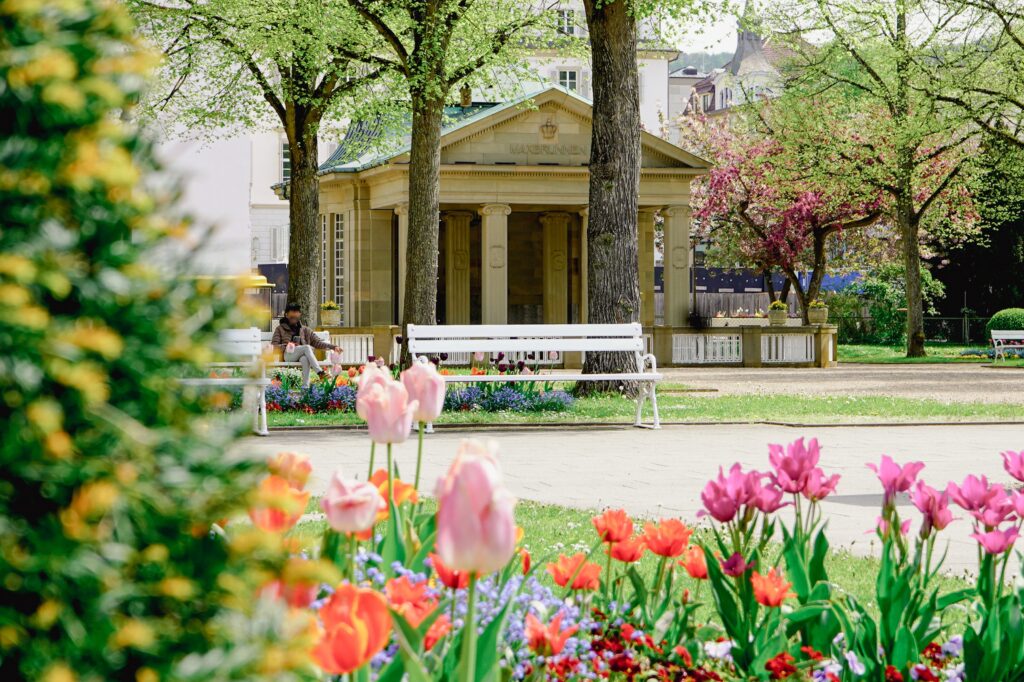
MULTIPOLYGON (((585 166, 590 160, 588 100, 551 87, 517 102, 495 106, 450 129, 441 137, 445 165, 585 166)), ((709 167, 675 144, 641 133, 644 168, 701 170, 709 167)))

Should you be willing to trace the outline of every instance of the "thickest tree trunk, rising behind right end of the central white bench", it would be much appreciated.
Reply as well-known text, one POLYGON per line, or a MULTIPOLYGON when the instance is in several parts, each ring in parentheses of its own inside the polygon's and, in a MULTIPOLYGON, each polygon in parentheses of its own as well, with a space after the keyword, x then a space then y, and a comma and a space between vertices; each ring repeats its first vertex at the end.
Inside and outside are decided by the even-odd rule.
MULTIPOLYGON (((637 197, 640 191, 640 85, 636 17, 627 0, 587 0, 593 60, 587 291, 592 324, 640 318, 637 197)), ((647 263, 652 267, 652 263, 647 263)), ((629 352, 587 353, 584 372, 634 371, 629 352)), ((618 382, 584 382, 581 393, 618 390, 618 382)), ((622 389, 635 395, 638 386, 622 389)))

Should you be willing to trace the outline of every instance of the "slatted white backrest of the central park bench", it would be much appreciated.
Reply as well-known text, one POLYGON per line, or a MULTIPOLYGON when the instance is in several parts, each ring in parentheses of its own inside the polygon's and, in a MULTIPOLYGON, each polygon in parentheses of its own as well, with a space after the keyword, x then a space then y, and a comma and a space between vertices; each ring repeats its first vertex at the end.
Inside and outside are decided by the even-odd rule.
POLYGON ((643 328, 626 325, 410 325, 414 355, 444 352, 643 352, 643 328))

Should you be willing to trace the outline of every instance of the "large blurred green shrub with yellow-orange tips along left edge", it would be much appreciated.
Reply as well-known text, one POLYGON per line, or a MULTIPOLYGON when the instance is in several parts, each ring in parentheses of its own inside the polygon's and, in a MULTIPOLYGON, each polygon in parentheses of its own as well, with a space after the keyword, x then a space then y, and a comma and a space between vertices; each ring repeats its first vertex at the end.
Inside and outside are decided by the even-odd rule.
POLYGON ((218 524, 259 472, 205 414, 229 396, 178 383, 247 321, 152 265, 184 228, 119 122, 148 57, 99 0, 3 3, 0 35, 0 679, 289 679, 285 610, 253 598, 283 548, 218 524))

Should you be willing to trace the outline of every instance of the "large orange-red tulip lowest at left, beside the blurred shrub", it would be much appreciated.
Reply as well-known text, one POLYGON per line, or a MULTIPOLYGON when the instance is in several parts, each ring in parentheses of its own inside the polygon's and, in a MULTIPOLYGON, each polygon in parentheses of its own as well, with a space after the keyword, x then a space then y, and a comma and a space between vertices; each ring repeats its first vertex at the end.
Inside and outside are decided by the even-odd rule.
POLYGON ((338 586, 319 610, 324 633, 313 660, 329 675, 346 675, 370 663, 391 637, 391 614, 381 593, 338 586))

